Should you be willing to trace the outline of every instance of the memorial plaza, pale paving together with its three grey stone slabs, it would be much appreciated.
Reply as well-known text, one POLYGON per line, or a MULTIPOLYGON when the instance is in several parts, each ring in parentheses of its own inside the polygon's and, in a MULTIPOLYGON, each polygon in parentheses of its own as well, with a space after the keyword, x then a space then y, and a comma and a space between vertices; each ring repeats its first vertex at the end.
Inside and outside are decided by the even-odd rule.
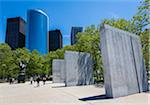
POLYGON ((53 81, 1 83, 0 105, 150 105, 139 37, 104 25, 100 45, 104 84, 94 84, 89 53, 65 51, 52 62, 53 81))

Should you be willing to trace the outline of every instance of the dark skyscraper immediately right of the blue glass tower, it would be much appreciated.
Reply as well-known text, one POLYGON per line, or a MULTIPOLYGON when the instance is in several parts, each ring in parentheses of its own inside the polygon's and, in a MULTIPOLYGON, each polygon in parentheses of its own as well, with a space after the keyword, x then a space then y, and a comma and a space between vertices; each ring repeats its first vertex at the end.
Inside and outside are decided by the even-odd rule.
POLYGON ((62 48, 62 34, 60 30, 49 31, 49 51, 62 48))

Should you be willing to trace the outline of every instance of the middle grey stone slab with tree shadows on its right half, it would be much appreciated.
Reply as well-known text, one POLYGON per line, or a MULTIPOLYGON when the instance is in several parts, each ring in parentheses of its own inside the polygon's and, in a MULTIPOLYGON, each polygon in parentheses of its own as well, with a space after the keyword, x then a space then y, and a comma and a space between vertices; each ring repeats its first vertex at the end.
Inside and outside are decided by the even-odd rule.
POLYGON ((93 61, 89 53, 65 52, 66 86, 93 83, 93 61))

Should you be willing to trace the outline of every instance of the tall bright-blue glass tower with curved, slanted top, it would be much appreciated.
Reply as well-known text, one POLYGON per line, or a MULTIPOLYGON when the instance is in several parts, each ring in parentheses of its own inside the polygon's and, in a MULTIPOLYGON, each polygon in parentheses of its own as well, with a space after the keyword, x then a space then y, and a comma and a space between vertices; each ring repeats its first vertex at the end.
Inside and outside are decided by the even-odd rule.
POLYGON ((48 52, 48 16, 41 10, 28 10, 26 47, 41 54, 48 52))

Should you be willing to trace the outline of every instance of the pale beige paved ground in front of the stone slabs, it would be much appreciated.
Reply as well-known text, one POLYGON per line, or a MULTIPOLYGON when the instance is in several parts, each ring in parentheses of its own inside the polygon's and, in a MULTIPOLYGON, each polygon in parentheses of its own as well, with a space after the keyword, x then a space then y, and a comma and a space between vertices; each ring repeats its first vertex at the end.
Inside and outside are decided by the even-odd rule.
POLYGON ((150 105, 150 93, 103 99, 104 88, 95 86, 35 85, 0 84, 0 105, 150 105), (79 100, 83 98, 85 101, 79 100))

